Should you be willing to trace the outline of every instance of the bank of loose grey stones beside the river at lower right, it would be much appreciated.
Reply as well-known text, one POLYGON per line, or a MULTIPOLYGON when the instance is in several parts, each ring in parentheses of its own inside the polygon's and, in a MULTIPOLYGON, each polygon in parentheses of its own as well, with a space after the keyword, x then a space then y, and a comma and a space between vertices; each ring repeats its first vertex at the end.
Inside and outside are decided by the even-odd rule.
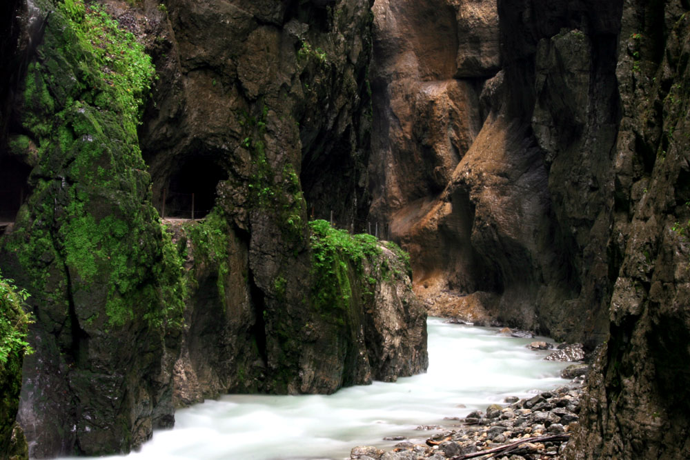
POLYGON ((438 427, 440 432, 424 444, 405 441, 388 451, 357 447, 350 458, 460 460, 486 452, 506 460, 562 459, 570 433, 578 426, 581 395, 582 386, 571 383, 529 399, 506 398, 505 403, 492 404, 485 412, 471 412, 460 424, 438 427))

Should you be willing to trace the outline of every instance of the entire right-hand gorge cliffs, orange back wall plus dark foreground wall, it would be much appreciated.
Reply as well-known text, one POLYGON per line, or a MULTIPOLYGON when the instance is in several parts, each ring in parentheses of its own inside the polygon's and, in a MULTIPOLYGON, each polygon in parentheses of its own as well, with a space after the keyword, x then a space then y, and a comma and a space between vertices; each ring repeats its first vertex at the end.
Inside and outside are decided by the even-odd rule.
POLYGON ((429 306, 606 342, 569 458, 689 455, 688 9, 375 4, 373 212, 429 306))

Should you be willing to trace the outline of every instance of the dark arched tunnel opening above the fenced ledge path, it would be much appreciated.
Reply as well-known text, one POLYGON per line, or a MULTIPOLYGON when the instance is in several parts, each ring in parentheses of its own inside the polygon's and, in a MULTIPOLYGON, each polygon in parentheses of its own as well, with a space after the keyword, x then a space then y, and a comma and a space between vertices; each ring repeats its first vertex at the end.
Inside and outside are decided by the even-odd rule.
POLYGON ((170 175, 163 191, 161 217, 203 219, 213 209, 216 188, 228 172, 213 157, 188 157, 170 175))

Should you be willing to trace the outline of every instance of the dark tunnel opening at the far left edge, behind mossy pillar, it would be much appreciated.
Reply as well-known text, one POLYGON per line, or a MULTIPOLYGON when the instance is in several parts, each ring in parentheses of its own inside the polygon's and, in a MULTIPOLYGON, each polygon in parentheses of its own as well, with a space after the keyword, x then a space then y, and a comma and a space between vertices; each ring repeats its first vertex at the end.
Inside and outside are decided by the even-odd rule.
POLYGON ((30 192, 30 166, 12 157, 0 156, 0 234, 17 219, 19 207, 30 192))

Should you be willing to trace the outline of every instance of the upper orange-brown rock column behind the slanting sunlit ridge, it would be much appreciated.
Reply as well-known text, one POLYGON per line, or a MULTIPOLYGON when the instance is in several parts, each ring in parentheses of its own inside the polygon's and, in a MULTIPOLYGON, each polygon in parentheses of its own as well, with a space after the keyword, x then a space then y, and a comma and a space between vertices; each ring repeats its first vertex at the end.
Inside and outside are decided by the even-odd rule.
POLYGON ((491 1, 379 0, 373 11, 370 175, 382 217, 443 190, 471 145, 482 123, 476 79, 498 68, 498 19, 491 1))

